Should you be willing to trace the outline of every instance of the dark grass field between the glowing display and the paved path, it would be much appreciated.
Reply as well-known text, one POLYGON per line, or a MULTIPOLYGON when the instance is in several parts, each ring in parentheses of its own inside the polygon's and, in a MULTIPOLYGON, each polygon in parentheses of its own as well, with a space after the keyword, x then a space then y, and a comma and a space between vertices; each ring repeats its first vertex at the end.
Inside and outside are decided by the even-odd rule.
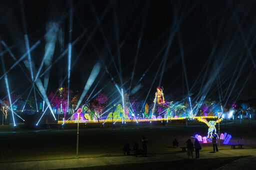
MULTIPOLYGON (((256 148, 255 121, 230 122, 220 125, 220 132, 231 134, 230 143, 244 144, 245 149, 256 148)), ((142 148, 140 137, 148 139, 148 154, 179 153, 181 149, 172 148, 174 138, 179 146, 195 134, 206 136, 207 126, 189 124, 171 124, 170 127, 82 129, 79 131, 79 158, 123 156, 122 147, 134 142, 142 148)), ((217 125, 216 125, 217 129, 217 125)), ((76 156, 75 130, 38 130, 26 132, 0 133, 0 163, 72 159, 76 156)), ((192 140, 194 141, 194 140, 192 140)), ((211 151, 211 144, 201 144, 201 151, 211 151)), ((221 144, 222 150, 229 150, 229 145, 221 144)))

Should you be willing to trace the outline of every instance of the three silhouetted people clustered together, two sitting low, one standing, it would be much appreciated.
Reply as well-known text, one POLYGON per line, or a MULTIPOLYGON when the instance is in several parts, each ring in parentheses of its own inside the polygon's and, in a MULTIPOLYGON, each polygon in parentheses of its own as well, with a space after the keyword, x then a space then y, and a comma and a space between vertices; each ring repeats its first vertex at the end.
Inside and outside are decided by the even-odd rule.
POLYGON ((130 149, 130 144, 126 144, 123 148, 122 148, 122 151, 124 151, 123 155, 126 155, 129 156, 130 155, 130 151, 133 151, 133 156, 134 157, 137 157, 138 155, 142 155, 142 156, 145 156, 147 155, 147 143, 148 143, 148 140, 146 139, 146 137, 144 136, 141 136, 141 142, 142 142, 142 150, 139 150, 138 149, 138 143, 134 142, 133 144, 133 147, 132 147, 132 150, 130 149))

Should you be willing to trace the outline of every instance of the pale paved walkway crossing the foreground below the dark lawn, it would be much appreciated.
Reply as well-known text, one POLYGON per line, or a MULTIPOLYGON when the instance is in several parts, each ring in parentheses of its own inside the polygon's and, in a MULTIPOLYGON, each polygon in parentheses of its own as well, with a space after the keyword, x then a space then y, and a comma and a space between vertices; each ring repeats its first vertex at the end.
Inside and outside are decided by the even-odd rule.
MULTIPOLYGON (((231 163, 233 169, 255 170, 256 169, 256 149, 234 149, 225 150, 215 153, 200 152, 200 159, 208 158, 223 158, 223 157, 238 157, 238 156, 254 156, 231 163), (249 169, 250 168, 250 169, 249 169), (252 169, 253 168, 253 169, 252 169)), ((68 159, 68 160, 51 160, 51 161, 32 161, 32 162, 17 162, 17 163, 2 163, 0 170, 54 170, 54 169, 69 169, 83 168, 94 166, 121 165, 121 164, 136 164, 136 163, 153 163, 164 161, 177 161, 187 159, 186 153, 164 154, 164 155, 148 155, 147 157, 137 158, 133 156, 123 157, 102 157, 102 158, 83 158, 83 159, 68 159)), ((219 170, 226 170, 227 167, 221 167, 219 170)), ((228 165, 230 169, 230 164, 228 165)))

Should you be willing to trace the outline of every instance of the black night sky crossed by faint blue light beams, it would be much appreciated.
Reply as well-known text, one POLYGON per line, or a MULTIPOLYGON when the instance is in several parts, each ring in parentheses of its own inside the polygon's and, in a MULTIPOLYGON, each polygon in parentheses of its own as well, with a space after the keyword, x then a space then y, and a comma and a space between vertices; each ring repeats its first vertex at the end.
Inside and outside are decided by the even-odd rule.
MULTIPOLYGON (((255 5, 253 0, 1 0, 1 67, 7 71, 15 63, 3 41, 18 60, 26 52, 27 34, 30 47, 40 40, 31 52, 38 70, 45 53, 46 25, 55 22, 58 31, 47 91, 57 89, 67 75, 67 53, 56 60, 68 47, 72 8, 71 42, 80 37, 72 46, 73 91, 82 92, 99 62, 99 75, 88 94, 99 82, 92 95, 102 89, 108 96, 115 92, 116 98, 115 82, 127 92, 138 86, 130 96, 145 100, 148 94, 149 103, 158 85, 167 101, 190 95, 196 102, 201 96, 219 94, 223 101, 255 99, 255 5)), ((19 64, 30 78, 23 60, 19 64)), ((11 92, 22 85, 15 91, 22 94, 31 85, 22 69, 16 65, 7 73, 11 92)), ((4 78, 0 87, 2 99, 4 78)))

